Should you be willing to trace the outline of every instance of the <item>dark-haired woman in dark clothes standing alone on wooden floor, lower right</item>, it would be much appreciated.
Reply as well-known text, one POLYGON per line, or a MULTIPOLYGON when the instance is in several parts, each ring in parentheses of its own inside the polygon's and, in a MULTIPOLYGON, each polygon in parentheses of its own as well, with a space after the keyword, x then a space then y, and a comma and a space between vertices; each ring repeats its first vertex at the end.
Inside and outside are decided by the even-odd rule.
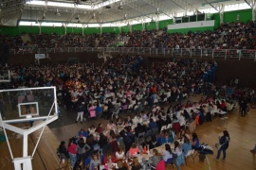
POLYGON ((226 160, 226 150, 229 148, 229 132, 228 130, 223 131, 223 136, 219 137, 219 144, 221 144, 220 148, 218 149, 217 157, 214 159, 214 161, 219 161, 220 154, 223 152, 223 159, 222 161, 226 160))

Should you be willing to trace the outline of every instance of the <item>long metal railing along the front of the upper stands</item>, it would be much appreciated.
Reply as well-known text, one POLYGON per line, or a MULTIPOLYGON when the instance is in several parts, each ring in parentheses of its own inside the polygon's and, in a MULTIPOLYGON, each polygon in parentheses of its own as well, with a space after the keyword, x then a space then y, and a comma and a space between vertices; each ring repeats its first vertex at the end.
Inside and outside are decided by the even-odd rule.
POLYGON ((47 54, 47 53, 122 53, 122 54, 148 54, 166 57, 200 57, 200 58, 236 58, 254 59, 256 61, 256 50, 247 49, 192 49, 192 48, 137 48, 137 47, 64 47, 64 48, 19 48, 11 49, 11 54, 47 54))

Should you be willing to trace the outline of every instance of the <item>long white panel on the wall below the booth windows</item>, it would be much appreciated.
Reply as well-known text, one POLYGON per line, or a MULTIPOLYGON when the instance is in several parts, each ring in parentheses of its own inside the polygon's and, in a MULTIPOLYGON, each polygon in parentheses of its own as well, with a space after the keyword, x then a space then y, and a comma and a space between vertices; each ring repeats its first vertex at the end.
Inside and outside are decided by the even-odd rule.
POLYGON ((191 23, 180 23, 176 25, 168 25, 168 29, 182 29, 182 28, 192 28, 192 27, 208 27, 214 26, 214 20, 210 21, 200 21, 200 22, 191 22, 191 23))

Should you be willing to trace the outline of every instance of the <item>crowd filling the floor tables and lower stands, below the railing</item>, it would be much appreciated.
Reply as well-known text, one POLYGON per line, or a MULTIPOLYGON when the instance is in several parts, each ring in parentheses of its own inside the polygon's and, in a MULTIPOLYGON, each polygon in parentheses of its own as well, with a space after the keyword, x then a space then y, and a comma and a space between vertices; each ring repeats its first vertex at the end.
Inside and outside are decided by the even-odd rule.
MULTIPOLYGON (((133 158, 132 166, 148 165, 141 160, 137 161, 137 151, 144 152, 146 145, 154 149, 167 143, 174 144, 174 148, 170 150, 171 145, 167 144, 166 151, 153 151, 154 157, 149 159, 149 163, 156 165, 159 157, 172 163, 179 155, 186 155, 190 148, 198 149, 200 146, 196 133, 192 133, 192 137, 186 133, 187 123, 198 120, 198 124, 203 124, 208 120, 204 117, 208 117, 209 113, 211 116, 216 110, 229 110, 229 105, 235 104, 235 99, 240 101, 241 112, 246 113, 247 110, 242 106, 247 105, 242 103, 248 103, 255 97, 252 89, 237 88, 236 80, 235 83, 230 80, 226 86, 204 81, 204 73, 215 67, 216 62, 174 58, 151 69, 145 69, 143 63, 144 59, 140 56, 119 56, 109 59, 103 66, 92 63, 56 63, 10 66, 9 70, 13 88, 56 86, 58 96, 63 97, 65 109, 77 111, 78 118, 82 114, 85 114, 86 119, 110 118, 117 109, 136 113, 124 120, 117 117, 117 122, 110 121, 105 128, 100 123, 98 127, 82 129, 76 138, 70 139, 66 147, 62 143, 59 152, 64 153, 64 158, 70 158, 73 167, 77 162, 84 167, 88 164, 95 166, 118 162, 124 158, 122 155, 133 158), (204 93, 207 97, 198 103, 182 102, 185 97, 198 93, 204 93), (177 104, 164 109, 159 106, 161 102, 177 104), (194 107, 195 110, 192 109, 194 107), (179 126, 161 130, 170 123, 179 126), (154 129, 157 129, 155 132, 159 135, 150 134, 154 129), (148 138, 138 144, 139 133, 143 131, 149 131, 148 138), (182 143, 176 143, 177 139, 181 139, 182 143), (95 150, 102 150, 104 156, 101 158, 101 154, 95 150)), ((83 121, 82 118, 81 123, 83 121)), ((224 149, 222 151, 225 154, 224 149)))

